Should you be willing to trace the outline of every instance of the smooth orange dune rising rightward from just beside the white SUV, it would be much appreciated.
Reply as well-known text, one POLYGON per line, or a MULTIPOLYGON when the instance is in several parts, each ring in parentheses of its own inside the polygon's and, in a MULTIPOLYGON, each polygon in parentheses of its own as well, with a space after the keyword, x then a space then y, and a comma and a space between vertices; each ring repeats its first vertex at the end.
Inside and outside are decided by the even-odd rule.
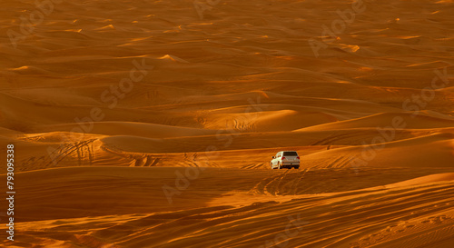
POLYGON ((305 166, 452 167, 453 134, 431 134, 398 142, 365 144, 322 151, 305 157, 305 166))

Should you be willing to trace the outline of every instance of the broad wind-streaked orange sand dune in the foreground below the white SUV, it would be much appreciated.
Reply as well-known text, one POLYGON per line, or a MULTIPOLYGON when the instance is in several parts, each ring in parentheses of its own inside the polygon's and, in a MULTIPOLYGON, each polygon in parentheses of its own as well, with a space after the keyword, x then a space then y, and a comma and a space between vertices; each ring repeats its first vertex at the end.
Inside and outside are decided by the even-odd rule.
POLYGON ((412 247, 421 242, 448 247, 453 223, 452 173, 390 184, 429 171, 369 169, 358 177, 349 171, 276 174, 223 170, 220 174, 219 169, 206 169, 170 205, 163 193, 153 192, 162 184, 173 184, 172 168, 35 171, 18 177, 27 206, 21 209, 18 228, 26 243, 60 247, 73 243, 96 247, 260 246, 273 242, 285 230, 295 233, 286 240, 292 247, 412 247), (220 180, 236 183, 217 184, 220 180), (67 187, 65 191, 52 187, 63 184, 60 182, 67 187), (377 186, 387 182, 386 187, 377 186), (108 191, 101 193, 101 189, 108 191), (287 226, 289 223, 293 225, 287 226), (225 239, 226 233, 229 239, 225 239))

